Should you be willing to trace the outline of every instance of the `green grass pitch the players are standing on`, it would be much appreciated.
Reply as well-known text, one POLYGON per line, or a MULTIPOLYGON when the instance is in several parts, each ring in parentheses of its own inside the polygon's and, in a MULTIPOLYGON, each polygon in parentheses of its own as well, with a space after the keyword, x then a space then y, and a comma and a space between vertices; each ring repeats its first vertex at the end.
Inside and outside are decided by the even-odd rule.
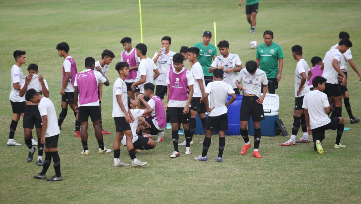
MULTIPOLYGON (((279 117, 288 132, 293 122, 293 82, 296 61, 291 47, 301 45, 308 63, 313 56, 323 58, 326 51, 338 42, 338 33, 347 31, 353 42, 353 61, 361 68, 361 2, 358 0, 261 0, 257 15, 256 34, 249 33, 244 5, 238 10, 238 0, 143 0, 143 42, 148 56, 160 48, 162 36, 172 37, 171 50, 182 45, 192 46, 202 40, 204 31, 213 32, 217 22, 217 41, 230 42, 230 52, 240 56, 243 63, 255 59, 249 42, 262 43, 265 30, 274 32, 274 42, 280 44, 285 55, 282 80, 276 94, 280 98, 279 117)), ((325 154, 317 154, 311 144, 282 147, 288 137, 262 137, 256 159, 251 152, 241 156, 243 139, 227 136, 224 160, 216 162, 217 135, 213 137, 207 162, 193 161, 202 150, 195 136, 192 154, 170 159, 173 151, 171 132, 153 150, 142 151, 137 157, 149 164, 143 168, 114 168, 113 154, 97 154, 97 142, 89 131, 90 155, 80 154, 80 139, 73 135, 74 117, 69 109, 59 139, 61 171, 64 181, 46 182, 32 178, 41 171, 35 160, 26 162, 27 147, 23 141, 22 119, 15 140, 23 145, 7 147, 9 124, 12 118, 9 103, 10 68, 14 64, 14 50, 25 50, 27 62, 39 65, 47 79, 49 98, 60 113, 61 66, 56 44, 66 41, 69 54, 75 59, 78 71, 84 58, 100 59, 101 51, 110 49, 116 55, 107 77, 110 86, 104 87, 102 114, 104 129, 112 134, 104 136, 105 146, 113 149, 115 137, 112 114, 112 86, 117 78, 114 69, 123 51, 119 43, 129 36, 135 46, 140 42, 138 1, 0 1, 0 203, 358 203, 361 182, 361 124, 350 124, 345 108, 345 131, 342 144, 347 148, 332 149, 334 131, 326 131, 323 142, 325 154)), ((214 40, 212 39, 212 44, 214 40)), ((310 65, 310 64, 309 64, 310 65)), ((188 62, 186 67, 189 68, 188 62)), ((361 116, 360 83, 349 67, 348 90, 353 114, 361 116), (357 88, 358 87, 358 88, 357 88)), ((297 139, 300 137, 297 137, 297 139)), ((182 138, 182 136, 180 136, 182 138)), ((253 137, 250 137, 253 142, 253 137)), ((180 139, 181 141, 182 139, 180 139)), ((183 141, 183 140, 182 140, 183 141)), ((37 153, 35 153, 34 157, 37 153)), ((121 148, 121 160, 130 162, 126 148, 121 148)), ((53 167, 47 177, 53 175, 53 167)))

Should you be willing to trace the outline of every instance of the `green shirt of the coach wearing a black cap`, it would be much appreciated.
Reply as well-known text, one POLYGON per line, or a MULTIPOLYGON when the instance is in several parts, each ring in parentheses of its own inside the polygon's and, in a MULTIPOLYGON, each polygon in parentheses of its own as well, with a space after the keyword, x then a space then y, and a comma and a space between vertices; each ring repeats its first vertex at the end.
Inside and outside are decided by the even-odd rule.
POLYGON ((210 43, 205 47, 202 42, 194 46, 199 48, 198 62, 203 68, 204 76, 213 76, 213 73, 209 73, 209 67, 213 62, 213 55, 217 56, 216 47, 210 43))

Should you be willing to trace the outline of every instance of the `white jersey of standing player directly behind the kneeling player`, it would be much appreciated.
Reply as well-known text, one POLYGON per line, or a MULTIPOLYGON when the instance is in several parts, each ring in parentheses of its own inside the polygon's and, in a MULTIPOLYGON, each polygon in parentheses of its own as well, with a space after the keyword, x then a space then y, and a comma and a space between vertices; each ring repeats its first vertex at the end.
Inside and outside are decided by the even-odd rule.
POLYGON ((323 58, 323 73, 322 77, 325 78, 327 81, 326 83, 333 83, 338 84, 337 75, 338 72, 332 66, 332 61, 336 59, 338 64, 340 65, 341 62, 341 52, 338 49, 332 49, 327 51, 325 58, 323 58))

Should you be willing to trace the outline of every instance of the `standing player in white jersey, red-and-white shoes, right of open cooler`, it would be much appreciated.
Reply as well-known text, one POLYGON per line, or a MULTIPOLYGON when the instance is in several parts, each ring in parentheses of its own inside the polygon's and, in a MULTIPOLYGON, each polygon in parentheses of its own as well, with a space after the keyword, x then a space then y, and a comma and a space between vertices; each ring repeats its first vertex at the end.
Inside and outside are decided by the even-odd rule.
POLYGON ((292 47, 291 50, 293 59, 297 61, 295 71, 295 111, 293 112, 291 138, 286 142, 282 143, 282 146, 296 145, 296 142, 310 143, 310 140, 308 139, 306 119, 304 109, 302 108, 302 103, 305 94, 310 91, 307 86, 307 80, 312 76, 312 72, 310 72, 310 68, 308 67, 306 60, 304 60, 302 57, 302 47, 299 45, 295 45, 292 47), (302 128, 303 137, 300 140, 296 141, 296 135, 300 126, 302 128))

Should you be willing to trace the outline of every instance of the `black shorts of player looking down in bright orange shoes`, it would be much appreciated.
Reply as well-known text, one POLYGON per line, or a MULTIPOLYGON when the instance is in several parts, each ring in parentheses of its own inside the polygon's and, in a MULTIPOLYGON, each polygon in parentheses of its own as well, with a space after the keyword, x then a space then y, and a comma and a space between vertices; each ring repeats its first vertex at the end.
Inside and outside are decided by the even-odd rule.
POLYGON ((258 99, 257 96, 242 97, 239 121, 249 121, 249 117, 251 117, 251 115, 253 122, 258 122, 265 119, 263 105, 258 104, 256 102, 257 99, 258 99))

